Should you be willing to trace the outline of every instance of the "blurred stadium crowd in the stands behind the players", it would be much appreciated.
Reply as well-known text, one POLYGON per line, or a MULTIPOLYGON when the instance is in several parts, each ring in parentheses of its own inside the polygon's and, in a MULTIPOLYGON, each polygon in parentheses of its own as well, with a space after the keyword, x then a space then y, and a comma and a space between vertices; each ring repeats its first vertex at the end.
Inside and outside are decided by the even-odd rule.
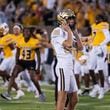
MULTIPOLYGON (((55 25, 56 13, 62 8, 74 10, 77 27, 94 23, 95 16, 103 12, 110 14, 109 0, 0 0, 0 11, 9 23, 23 25, 55 25), (88 21, 86 21, 88 20, 88 21)), ((2 18, 1 18, 2 19, 2 18)), ((110 19, 110 18, 109 18, 110 19)))

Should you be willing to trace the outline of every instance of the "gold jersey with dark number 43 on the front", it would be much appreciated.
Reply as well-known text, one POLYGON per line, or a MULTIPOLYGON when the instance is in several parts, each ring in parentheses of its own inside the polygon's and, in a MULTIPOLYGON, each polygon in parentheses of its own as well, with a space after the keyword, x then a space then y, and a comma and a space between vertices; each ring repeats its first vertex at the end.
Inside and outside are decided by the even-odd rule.
POLYGON ((20 48, 20 57, 22 60, 34 60, 35 49, 39 48, 40 41, 38 39, 30 38, 28 42, 25 42, 24 37, 20 38, 17 42, 17 47, 20 48))

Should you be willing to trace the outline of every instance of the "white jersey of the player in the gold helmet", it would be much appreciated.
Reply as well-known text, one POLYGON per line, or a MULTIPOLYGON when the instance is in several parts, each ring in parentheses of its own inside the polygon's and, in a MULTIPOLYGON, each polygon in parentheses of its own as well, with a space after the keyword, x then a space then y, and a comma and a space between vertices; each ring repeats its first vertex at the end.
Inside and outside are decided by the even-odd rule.
MULTIPOLYGON (((63 42, 67 40, 68 33, 62 28, 57 27, 51 33, 51 43, 55 51, 56 57, 61 65, 73 65, 73 55, 63 47, 63 42)), ((73 36, 73 40, 74 40, 73 36)))

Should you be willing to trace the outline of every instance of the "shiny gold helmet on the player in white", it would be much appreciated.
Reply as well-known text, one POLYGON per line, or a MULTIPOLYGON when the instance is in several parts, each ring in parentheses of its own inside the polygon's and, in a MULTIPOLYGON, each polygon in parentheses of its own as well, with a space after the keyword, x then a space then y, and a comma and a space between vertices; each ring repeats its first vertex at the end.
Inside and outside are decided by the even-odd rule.
POLYGON ((66 20, 70 17, 75 18, 74 12, 70 9, 63 9, 57 15, 58 23, 59 24, 66 23, 66 20))

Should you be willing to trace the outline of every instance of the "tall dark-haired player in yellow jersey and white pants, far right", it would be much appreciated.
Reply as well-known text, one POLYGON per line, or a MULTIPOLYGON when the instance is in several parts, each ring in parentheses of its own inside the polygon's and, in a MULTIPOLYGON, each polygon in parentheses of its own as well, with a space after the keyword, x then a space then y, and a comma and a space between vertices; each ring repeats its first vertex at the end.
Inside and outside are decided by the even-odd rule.
POLYGON ((89 58, 89 71, 92 76, 94 88, 90 92, 91 97, 99 93, 98 99, 104 97, 104 65, 106 58, 106 45, 110 41, 109 24, 106 22, 105 15, 96 16, 96 23, 92 25, 92 50, 89 58), (97 71, 96 71, 97 70, 97 71), (99 75, 100 87, 95 77, 95 71, 99 75))

